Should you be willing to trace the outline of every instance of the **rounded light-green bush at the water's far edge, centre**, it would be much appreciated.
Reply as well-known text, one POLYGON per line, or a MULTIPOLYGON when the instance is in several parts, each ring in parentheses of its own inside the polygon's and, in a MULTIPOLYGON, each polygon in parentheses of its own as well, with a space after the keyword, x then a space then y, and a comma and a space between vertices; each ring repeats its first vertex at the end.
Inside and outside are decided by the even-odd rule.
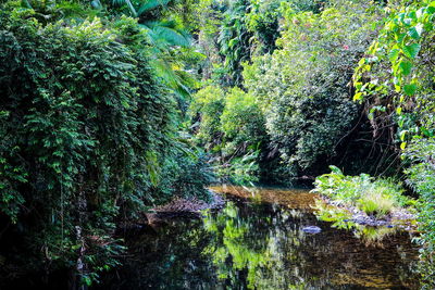
POLYGON ((259 180, 268 136, 263 115, 251 94, 239 88, 224 92, 207 86, 195 94, 190 116, 199 142, 214 154, 221 178, 236 182, 259 180))

